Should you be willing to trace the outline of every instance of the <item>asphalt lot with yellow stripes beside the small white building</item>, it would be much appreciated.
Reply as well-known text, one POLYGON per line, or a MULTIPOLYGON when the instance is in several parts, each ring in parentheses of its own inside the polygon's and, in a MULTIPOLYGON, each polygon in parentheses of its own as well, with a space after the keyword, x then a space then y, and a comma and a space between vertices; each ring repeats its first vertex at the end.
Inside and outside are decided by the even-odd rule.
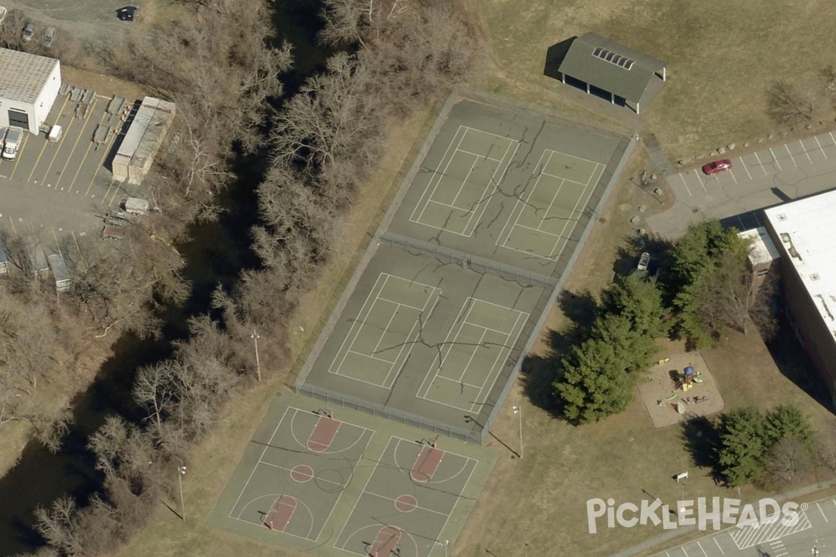
POLYGON ((122 126, 119 99, 113 103, 93 91, 85 95, 84 89, 73 89, 62 88, 47 120, 64 130, 59 141, 25 134, 17 159, 0 161, 5 194, 0 222, 15 234, 46 226, 87 232, 121 200, 138 193, 115 183, 106 168, 122 126))

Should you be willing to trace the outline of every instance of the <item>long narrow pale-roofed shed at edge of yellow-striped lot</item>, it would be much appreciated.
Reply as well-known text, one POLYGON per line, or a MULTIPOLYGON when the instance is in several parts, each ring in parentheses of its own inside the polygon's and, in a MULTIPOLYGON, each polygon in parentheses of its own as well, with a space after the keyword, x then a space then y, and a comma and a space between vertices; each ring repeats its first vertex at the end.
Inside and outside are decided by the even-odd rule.
POLYGON ((145 180, 173 117, 174 103, 153 97, 142 99, 114 156, 115 180, 133 185, 145 180))

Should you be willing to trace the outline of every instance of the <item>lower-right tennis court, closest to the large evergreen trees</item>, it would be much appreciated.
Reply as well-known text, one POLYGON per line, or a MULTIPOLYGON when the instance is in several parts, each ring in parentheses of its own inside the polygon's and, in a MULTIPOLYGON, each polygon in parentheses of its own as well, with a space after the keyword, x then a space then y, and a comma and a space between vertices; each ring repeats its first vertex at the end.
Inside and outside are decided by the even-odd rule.
POLYGON ((526 321, 524 311, 468 297, 415 396, 478 413, 526 321))

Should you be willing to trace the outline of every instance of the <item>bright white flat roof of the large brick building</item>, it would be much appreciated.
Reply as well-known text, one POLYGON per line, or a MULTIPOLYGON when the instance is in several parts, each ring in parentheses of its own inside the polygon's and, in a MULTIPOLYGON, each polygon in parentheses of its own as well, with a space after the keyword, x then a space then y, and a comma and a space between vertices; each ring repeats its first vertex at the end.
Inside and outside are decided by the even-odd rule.
POLYGON ((819 314, 836 336, 836 190, 764 211, 819 314))

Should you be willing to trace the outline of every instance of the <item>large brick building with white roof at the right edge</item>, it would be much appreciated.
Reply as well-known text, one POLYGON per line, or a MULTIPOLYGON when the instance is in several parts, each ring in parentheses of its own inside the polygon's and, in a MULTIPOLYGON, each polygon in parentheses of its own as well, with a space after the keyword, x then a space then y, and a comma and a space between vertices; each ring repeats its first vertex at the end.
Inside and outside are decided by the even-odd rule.
POLYGON ((781 252, 781 283, 798 340, 836 408, 836 190, 764 211, 781 252))

